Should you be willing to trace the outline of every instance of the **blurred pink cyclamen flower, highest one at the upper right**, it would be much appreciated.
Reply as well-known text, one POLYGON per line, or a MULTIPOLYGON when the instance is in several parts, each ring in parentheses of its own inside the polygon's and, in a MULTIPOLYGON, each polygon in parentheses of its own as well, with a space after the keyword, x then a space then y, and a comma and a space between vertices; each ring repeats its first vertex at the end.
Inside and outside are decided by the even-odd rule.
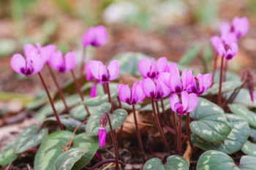
POLYGON ((227 22, 223 22, 220 26, 220 31, 223 34, 227 34, 230 32, 233 32, 236 34, 237 38, 240 38, 241 36, 244 36, 249 30, 249 20, 246 17, 233 18, 233 22, 230 25, 227 22))

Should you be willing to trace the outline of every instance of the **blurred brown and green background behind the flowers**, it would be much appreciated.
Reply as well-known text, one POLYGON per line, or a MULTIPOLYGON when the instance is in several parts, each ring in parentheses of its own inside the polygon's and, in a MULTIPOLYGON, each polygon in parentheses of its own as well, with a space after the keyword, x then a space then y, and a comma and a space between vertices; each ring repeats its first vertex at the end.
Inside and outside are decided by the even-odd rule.
MULTIPOLYGON (((220 34, 222 21, 231 23, 235 16, 249 18, 250 28, 239 40, 238 55, 229 69, 238 74, 251 69, 255 74, 255 0, 1 0, 0 113, 18 112, 43 93, 37 76, 23 77, 10 67, 10 58, 23 53, 26 43, 54 44, 64 53, 74 50, 80 63, 81 36, 90 26, 102 24, 108 29, 108 43, 89 49, 87 59, 105 62, 132 51, 179 61, 187 50, 196 49, 200 55, 189 66, 211 72, 215 52, 210 37, 220 34)), ((48 71, 42 74, 50 89, 56 90, 48 71)), ((58 80, 63 83, 69 76, 58 74, 58 80)))

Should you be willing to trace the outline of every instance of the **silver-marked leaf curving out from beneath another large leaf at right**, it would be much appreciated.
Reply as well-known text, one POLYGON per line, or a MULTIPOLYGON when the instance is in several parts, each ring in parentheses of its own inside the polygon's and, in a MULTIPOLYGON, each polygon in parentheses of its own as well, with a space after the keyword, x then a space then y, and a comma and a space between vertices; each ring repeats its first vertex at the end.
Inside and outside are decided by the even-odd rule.
POLYGON ((219 150, 227 154, 232 154, 241 149, 249 136, 249 124, 243 117, 226 114, 233 123, 230 134, 221 143, 207 142, 199 136, 192 134, 192 142, 203 150, 219 150))

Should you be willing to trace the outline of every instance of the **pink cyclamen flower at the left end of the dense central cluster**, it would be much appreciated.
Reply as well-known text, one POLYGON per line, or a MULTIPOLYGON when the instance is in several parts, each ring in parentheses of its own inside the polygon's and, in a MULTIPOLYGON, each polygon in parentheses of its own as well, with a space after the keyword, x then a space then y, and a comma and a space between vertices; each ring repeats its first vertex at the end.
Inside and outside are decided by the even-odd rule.
POLYGON ((118 85, 119 99, 129 105, 135 105, 143 101, 146 96, 143 93, 141 84, 141 81, 133 83, 132 89, 128 85, 118 85))

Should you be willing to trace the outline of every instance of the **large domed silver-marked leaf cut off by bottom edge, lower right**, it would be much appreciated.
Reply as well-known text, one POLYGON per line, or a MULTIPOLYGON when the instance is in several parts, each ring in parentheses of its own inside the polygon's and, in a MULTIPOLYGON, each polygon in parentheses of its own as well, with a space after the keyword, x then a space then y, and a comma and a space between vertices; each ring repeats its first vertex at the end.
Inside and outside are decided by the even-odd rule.
POLYGON ((208 150, 200 155, 197 170, 239 170, 229 155, 217 150, 208 150))

